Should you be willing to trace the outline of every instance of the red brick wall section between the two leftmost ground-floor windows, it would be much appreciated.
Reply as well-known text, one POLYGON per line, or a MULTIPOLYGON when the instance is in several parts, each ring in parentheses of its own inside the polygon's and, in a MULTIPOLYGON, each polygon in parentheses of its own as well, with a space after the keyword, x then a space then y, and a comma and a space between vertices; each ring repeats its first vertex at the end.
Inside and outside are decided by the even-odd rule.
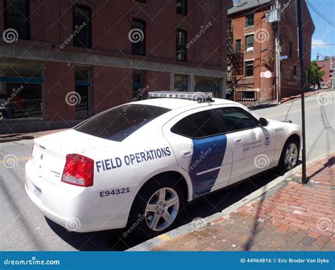
POLYGON ((66 63, 45 63, 45 119, 75 119, 75 107, 66 103, 66 94, 75 90, 74 67, 66 63))

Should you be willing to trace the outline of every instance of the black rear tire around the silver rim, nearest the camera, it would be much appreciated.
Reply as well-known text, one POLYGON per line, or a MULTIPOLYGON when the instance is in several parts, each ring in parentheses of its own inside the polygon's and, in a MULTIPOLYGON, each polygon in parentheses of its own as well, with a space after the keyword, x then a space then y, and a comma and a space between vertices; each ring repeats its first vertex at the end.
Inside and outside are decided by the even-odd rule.
MULTIPOLYGON (((134 199, 134 203, 131 206, 131 211, 129 214, 129 221, 127 224, 127 232, 135 231, 136 233, 139 233, 140 235, 144 237, 155 237, 156 235, 159 235, 160 233, 165 233, 167 230, 170 230, 175 222, 177 221, 178 214, 182 210, 185 204, 184 199, 184 190, 182 189, 181 184, 178 184, 175 182, 175 180, 170 179, 170 177, 167 177, 165 175, 161 175, 160 177, 154 177, 153 179, 149 180, 144 186, 140 189, 139 193, 136 195, 134 199), (161 206, 163 209, 158 209, 160 211, 160 215, 163 215, 162 212, 166 211, 170 214, 170 216, 174 216, 173 221, 170 225, 168 225, 167 228, 163 228, 164 225, 160 225, 162 230, 152 230, 149 227, 149 224, 151 223, 151 220, 153 219, 153 211, 147 212, 146 207, 149 203, 149 200, 151 202, 155 199, 158 199, 158 196, 155 196, 156 192, 160 191, 161 189, 166 190, 166 198, 170 195, 171 198, 174 197, 172 195, 177 195, 179 200, 179 205, 176 213, 176 207, 175 206, 161 206), (173 192, 172 192, 173 191, 173 192), (175 193, 174 193, 175 192, 175 193), (156 198, 157 197, 157 198, 156 198), (173 210, 173 215, 170 213, 170 211, 173 210), (151 219, 150 219, 151 218, 151 219)), ((153 204, 152 204, 153 205, 153 204)), ((166 213, 165 213, 166 214, 166 213)), ((159 216, 159 215, 158 215, 159 216)), ((160 223, 165 222, 165 218, 160 216, 159 221, 160 223)), ((158 224, 160 224, 158 223, 158 224)), ((158 226, 159 227, 159 226, 158 226)), ((157 229, 157 228, 156 228, 157 229)))

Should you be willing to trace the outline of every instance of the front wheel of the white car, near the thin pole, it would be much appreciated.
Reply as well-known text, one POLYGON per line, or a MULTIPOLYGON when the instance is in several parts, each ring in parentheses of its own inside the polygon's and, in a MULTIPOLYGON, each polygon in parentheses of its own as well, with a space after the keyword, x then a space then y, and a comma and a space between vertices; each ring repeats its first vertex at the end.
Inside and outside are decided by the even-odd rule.
POLYGON ((288 139, 286 141, 281 158, 278 163, 277 172, 283 173, 292 170, 298 163, 299 159, 299 143, 295 139, 288 139))

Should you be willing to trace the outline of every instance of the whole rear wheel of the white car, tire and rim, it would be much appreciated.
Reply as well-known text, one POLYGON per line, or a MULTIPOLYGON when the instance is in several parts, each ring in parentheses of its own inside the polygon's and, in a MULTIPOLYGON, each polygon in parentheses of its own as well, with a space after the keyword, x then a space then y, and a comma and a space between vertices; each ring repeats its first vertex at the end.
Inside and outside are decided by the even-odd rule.
POLYGON ((153 179, 137 194, 128 227, 149 237, 164 233, 172 228, 183 206, 184 192, 180 184, 167 177, 153 179))

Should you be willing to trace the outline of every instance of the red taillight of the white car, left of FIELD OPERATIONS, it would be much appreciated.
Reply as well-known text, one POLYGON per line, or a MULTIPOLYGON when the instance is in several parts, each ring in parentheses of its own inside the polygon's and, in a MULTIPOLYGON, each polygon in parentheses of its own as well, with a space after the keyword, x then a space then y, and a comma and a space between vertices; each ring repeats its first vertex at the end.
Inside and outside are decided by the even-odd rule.
POLYGON ((94 161, 84 155, 66 155, 61 182, 81 187, 93 186, 94 161))

